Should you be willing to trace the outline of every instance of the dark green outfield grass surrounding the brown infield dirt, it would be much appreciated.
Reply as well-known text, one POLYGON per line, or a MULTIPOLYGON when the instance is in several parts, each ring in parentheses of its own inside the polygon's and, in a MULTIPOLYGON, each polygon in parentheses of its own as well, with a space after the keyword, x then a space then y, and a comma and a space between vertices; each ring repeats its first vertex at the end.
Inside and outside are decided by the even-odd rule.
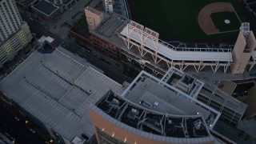
POLYGON ((164 40, 223 41, 223 39, 237 38, 238 32, 206 35, 201 30, 198 25, 198 13, 212 2, 231 2, 241 21, 246 21, 235 0, 129 0, 129 5, 132 19, 157 31, 159 37, 164 40))

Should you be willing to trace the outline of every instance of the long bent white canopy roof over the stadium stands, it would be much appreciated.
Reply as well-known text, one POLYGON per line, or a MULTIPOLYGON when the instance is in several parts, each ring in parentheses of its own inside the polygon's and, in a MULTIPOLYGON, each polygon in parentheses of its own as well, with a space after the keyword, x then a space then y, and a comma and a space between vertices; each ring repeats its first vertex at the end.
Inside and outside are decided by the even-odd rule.
MULTIPOLYGON (((135 42, 141 43, 142 34, 138 32, 138 30, 134 30, 132 26, 126 26, 122 29, 121 33, 123 36, 128 37, 135 42)), ((143 35, 145 38, 146 36, 143 35)), ((155 42, 152 38, 145 38, 144 42, 146 47, 150 50, 157 51, 158 54, 162 54, 166 58, 170 58, 172 60, 184 60, 184 61, 220 61, 220 62, 232 62, 232 54, 231 51, 228 50, 224 52, 224 50, 218 51, 178 51, 175 50, 176 47, 167 44, 166 42, 162 42, 158 40, 155 42), (168 47, 169 45, 170 47, 168 47), (157 47, 157 49, 155 48, 157 47)), ((198 50, 200 50, 198 48, 198 50)))

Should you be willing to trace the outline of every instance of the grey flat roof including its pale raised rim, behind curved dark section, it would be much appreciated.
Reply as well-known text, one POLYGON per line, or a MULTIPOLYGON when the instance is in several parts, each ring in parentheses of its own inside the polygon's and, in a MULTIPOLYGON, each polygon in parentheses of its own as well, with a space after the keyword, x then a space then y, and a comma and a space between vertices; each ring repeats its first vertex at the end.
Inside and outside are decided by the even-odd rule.
MULTIPOLYGON (((172 67, 168 72, 174 70, 177 69, 172 67)), ((180 70, 178 71, 183 73, 180 70)), ((166 75, 169 74, 168 72, 166 75)), ((165 82, 166 79, 164 78, 165 77, 158 79, 142 71, 122 93, 122 97, 145 109, 158 111, 163 114, 178 116, 202 115, 207 125, 210 126, 210 128, 214 127, 214 124, 218 121, 220 116, 218 111, 199 102, 196 98, 191 97, 182 90, 170 86, 165 82)), ((198 91, 201 88, 198 88, 198 91)))

